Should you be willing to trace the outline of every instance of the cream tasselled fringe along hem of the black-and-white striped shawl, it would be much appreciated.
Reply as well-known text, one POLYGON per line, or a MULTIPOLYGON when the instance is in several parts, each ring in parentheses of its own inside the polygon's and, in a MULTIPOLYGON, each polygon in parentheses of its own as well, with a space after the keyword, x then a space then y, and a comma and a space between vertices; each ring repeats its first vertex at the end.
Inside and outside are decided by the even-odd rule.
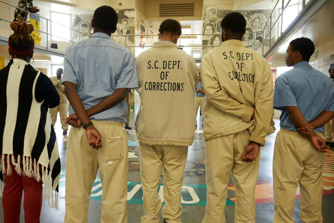
MULTIPOLYGON (((37 182, 42 180, 44 184, 44 199, 47 199, 48 205, 51 208, 55 208, 56 210, 59 210, 59 201, 58 201, 58 193, 55 191, 53 192, 52 188, 52 179, 51 179, 51 171, 47 170, 46 166, 41 165, 34 159, 32 162, 31 157, 29 156, 23 156, 22 157, 22 164, 23 164, 23 170, 21 170, 21 157, 18 155, 17 163, 15 162, 15 158, 12 154, 2 154, 2 173, 6 175, 12 174, 12 168, 11 165, 9 165, 10 161, 15 166, 14 170, 18 175, 25 175, 30 178, 34 178, 37 182), (5 159, 5 155, 7 156, 5 159), (7 163, 7 169, 5 169, 5 162, 7 163), (39 169, 42 170, 42 179, 40 176, 39 169)), ((5 178, 5 175, 4 175, 5 178)), ((4 179, 5 181, 5 179, 4 179)), ((5 186, 5 182, 0 181, 0 198, 2 198, 3 188, 5 186)))

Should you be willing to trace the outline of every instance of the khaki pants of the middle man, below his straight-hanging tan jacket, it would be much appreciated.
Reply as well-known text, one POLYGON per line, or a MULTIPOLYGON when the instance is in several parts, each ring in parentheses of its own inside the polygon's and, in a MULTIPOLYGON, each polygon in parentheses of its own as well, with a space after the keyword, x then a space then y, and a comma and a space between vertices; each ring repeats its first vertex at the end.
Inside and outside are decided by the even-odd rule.
POLYGON ((162 207, 158 186, 164 168, 164 202, 161 215, 167 223, 181 223, 181 192, 188 146, 147 145, 139 143, 140 177, 143 189, 145 216, 142 223, 160 223, 162 207))

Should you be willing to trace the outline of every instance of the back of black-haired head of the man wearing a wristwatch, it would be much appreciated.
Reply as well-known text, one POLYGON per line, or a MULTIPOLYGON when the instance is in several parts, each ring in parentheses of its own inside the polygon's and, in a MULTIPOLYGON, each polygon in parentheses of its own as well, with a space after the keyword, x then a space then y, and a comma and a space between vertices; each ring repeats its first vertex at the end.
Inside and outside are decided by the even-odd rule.
POLYGON ((103 5, 95 10, 93 20, 95 28, 111 33, 116 29, 118 15, 115 9, 103 5))

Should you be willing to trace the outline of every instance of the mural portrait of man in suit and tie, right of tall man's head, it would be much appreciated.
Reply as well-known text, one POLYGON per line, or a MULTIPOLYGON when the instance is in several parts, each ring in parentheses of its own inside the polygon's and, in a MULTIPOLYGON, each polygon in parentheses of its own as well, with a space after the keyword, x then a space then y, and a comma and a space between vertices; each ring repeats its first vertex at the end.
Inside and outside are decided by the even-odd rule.
MULTIPOLYGON (((118 10, 117 30, 112 34, 112 39, 125 47, 134 46, 135 37, 127 36, 133 34, 135 34, 135 9, 118 10)), ((133 54, 135 53, 135 47, 129 47, 129 50, 131 50, 133 54)))

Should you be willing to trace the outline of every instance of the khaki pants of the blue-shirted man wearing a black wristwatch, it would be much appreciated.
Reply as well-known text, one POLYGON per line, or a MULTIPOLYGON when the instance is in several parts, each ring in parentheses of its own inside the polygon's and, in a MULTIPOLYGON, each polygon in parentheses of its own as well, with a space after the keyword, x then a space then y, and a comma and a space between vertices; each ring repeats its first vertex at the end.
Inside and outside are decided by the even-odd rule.
POLYGON ((65 223, 84 223, 98 169, 103 187, 101 223, 126 223, 128 140, 123 123, 94 121, 102 148, 88 145, 86 131, 72 127, 67 141, 65 223))

